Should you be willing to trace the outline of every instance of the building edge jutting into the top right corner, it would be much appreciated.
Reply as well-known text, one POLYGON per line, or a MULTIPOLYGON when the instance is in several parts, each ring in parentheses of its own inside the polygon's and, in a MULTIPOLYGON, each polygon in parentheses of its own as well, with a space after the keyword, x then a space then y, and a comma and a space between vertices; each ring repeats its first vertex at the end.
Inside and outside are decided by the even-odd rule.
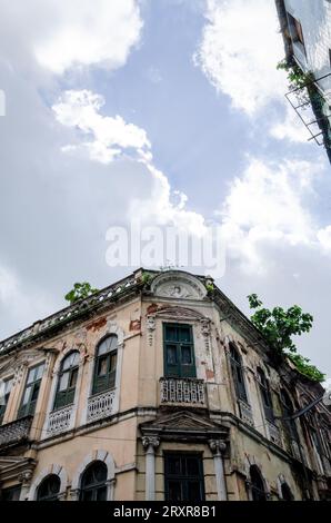
POLYGON ((331 161, 331 1, 275 0, 275 4, 285 60, 307 76, 305 87, 291 92, 289 101, 331 161))

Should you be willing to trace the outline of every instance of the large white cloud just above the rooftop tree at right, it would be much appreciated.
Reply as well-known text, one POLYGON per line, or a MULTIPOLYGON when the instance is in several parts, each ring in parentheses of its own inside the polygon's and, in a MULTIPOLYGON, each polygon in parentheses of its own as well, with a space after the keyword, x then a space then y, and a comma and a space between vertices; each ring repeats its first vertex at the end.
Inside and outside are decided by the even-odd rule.
POLYGON ((309 161, 273 165, 250 158, 242 176, 234 178, 219 214, 229 255, 245 270, 268 273, 268 245, 319 250, 331 246, 331 227, 320 230, 309 206, 320 169, 309 161))

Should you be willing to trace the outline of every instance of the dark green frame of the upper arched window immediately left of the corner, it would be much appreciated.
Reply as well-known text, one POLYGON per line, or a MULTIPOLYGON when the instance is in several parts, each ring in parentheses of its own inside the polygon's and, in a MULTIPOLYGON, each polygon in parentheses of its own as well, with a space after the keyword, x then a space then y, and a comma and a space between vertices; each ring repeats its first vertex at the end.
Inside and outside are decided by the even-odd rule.
POLYGON ((119 362, 119 336, 114 333, 108 334, 98 343, 96 347, 96 357, 94 357, 94 368, 93 368, 93 377, 92 377, 92 389, 91 395, 102 394, 104 392, 111 391, 116 388, 117 385, 117 374, 118 374, 118 362, 119 362), (104 342, 108 339, 116 338, 116 345, 112 348, 107 351, 104 354, 98 354, 100 347, 104 342), (114 358, 114 365, 112 365, 112 358, 114 358), (107 372, 104 375, 98 374, 99 373, 99 365, 101 361, 106 359, 107 372), (102 384, 103 383, 103 384, 102 384))

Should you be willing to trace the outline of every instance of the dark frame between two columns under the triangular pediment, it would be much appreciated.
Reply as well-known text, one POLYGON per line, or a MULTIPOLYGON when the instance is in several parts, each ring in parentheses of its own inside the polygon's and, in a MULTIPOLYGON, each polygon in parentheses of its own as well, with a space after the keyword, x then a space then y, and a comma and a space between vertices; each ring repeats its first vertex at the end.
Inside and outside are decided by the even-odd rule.
MULTIPOLYGON (((187 467, 187 464, 185 464, 187 467)), ((171 500, 170 499, 170 489, 169 483, 171 481, 180 482, 181 484, 181 492, 183 494, 188 494, 188 485, 189 482, 199 482, 200 489, 200 500, 194 499, 195 502, 203 502, 205 501, 205 485, 204 485, 204 471, 203 471, 203 453, 202 452, 175 452, 175 451, 164 451, 163 452, 163 473, 164 473, 164 501, 171 502, 179 502, 179 503, 187 503, 193 500, 185 500, 185 495, 183 495, 183 500, 171 500), (180 460, 197 460, 198 463, 198 474, 190 475, 190 474, 170 474, 169 473, 169 460, 171 457, 177 457, 180 460)), ((188 497, 188 496, 187 496, 188 497)))

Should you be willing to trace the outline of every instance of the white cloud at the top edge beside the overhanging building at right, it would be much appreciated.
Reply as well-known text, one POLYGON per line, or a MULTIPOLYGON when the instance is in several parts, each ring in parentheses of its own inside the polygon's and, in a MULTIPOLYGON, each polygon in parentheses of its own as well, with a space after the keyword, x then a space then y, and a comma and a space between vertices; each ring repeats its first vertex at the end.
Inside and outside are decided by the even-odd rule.
POLYGON ((205 18, 195 62, 219 92, 248 115, 284 95, 285 75, 277 70, 284 50, 273 0, 207 0, 205 18))

